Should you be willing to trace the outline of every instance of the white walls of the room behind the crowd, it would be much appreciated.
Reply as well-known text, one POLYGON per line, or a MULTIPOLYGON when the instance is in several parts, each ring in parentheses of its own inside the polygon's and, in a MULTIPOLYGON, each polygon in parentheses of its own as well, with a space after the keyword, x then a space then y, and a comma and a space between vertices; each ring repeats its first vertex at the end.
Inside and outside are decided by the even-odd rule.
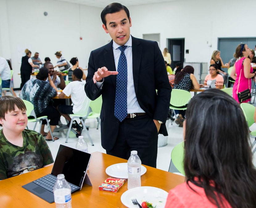
MULTIPOLYGON (((246 4, 238 0, 180 0, 128 9, 134 37, 160 33, 161 51, 168 38, 185 38, 185 49, 189 49, 186 61, 209 62, 218 37, 255 37, 255 7, 255 0, 246 4)), ((68 61, 77 56, 80 66, 86 68, 91 50, 110 40, 102 29, 101 11, 55 0, 0 0, 0 56, 12 59, 14 87, 20 85, 18 45, 28 46, 32 55, 38 51, 42 60, 50 57, 53 64, 54 53, 61 50, 68 61)))

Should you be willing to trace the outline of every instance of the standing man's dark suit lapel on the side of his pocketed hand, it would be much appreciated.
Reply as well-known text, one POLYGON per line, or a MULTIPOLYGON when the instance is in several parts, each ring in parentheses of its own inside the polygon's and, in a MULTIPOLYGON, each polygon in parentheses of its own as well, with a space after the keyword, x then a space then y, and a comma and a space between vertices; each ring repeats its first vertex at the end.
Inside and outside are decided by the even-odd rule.
POLYGON ((132 68, 135 93, 138 92, 139 66, 142 56, 142 46, 137 38, 132 37, 132 68))

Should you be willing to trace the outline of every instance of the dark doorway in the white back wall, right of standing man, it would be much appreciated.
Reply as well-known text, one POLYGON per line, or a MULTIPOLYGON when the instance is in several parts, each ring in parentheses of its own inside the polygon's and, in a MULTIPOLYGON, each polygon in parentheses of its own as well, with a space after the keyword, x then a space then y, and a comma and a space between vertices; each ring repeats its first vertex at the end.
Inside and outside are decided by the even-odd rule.
POLYGON ((177 62, 184 63, 185 38, 168 39, 168 51, 171 53, 171 68, 175 68, 177 62))

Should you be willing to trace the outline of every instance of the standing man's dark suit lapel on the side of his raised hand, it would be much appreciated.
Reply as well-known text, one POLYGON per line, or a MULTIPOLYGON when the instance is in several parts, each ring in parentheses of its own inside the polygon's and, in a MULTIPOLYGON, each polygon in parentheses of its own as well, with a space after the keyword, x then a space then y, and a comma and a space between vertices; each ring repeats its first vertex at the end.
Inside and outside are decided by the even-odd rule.
MULTIPOLYGON (((105 53, 104 58, 106 62, 106 67, 109 71, 115 71, 115 60, 114 60, 114 53, 113 53, 113 40, 110 41, 109 44, 105 47, 105 53)), ((113 82, 113 84, 116 86, 117 76, 111 75, 109 76, 110 80, 113 82)))

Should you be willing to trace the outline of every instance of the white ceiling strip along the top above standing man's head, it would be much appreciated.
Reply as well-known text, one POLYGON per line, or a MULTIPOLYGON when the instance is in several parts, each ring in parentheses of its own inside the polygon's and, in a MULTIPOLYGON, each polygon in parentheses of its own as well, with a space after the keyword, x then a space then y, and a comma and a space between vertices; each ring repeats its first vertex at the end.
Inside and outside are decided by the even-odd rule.
MULTIPOLYGON (((56 1, 63 1, 63 2, 70 2, 75 4, 83 4, 87 6, 94 6, 99 8, 104 8, 105 6, 117 2, 115 0, 56 0, 56 1)), ((119 3, 125 6, 135 6, 135 5, 142 5, 142 4, 153 4, 153 3, 161 3, 161 2, 172 2, 177 0, 118 0, 119 3)))

